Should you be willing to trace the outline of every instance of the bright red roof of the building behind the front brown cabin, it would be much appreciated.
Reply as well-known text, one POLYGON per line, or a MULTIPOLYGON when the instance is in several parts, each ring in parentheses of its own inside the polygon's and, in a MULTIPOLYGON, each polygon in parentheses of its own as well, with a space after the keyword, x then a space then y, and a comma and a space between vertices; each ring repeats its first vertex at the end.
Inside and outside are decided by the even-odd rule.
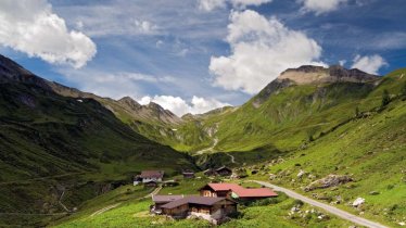
POLYGON ((278 194, 268 188, 246 189, 237 183, 208 183, 214 191, 232 191, 240 198, 266 198, 278 194))

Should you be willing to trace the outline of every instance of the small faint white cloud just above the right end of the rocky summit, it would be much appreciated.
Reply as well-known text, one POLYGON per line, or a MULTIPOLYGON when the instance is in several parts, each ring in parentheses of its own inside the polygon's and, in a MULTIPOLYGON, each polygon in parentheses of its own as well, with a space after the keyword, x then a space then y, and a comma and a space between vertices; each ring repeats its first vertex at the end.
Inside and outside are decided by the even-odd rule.
POLYGON ((361 69, 369 74, 378 75, 379 69, 382 66, 386 66, 386 65, 388 65, 386 61, 378 54, 373 54, 369 56, 368 55, 360 56, 359 54, 357 54, 354 58, 354 64, 351 67, 361 69))

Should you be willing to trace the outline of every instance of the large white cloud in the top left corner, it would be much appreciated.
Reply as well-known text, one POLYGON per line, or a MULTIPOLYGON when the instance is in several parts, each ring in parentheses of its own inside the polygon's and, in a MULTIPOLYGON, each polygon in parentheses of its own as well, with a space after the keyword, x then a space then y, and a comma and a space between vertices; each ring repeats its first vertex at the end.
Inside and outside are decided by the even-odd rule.
POLYGON ((47 0, 2 0, 0 22, 1 45, 49 63, 79 68, 97 52, 91 39, 69 30, 47 0))

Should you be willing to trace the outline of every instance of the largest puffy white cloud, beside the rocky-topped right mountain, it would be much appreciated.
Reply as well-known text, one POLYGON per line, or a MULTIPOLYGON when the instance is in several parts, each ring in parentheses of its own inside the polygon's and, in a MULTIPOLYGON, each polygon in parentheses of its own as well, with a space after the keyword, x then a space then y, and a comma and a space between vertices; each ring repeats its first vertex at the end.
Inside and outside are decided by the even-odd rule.
POLYGON ((229 56, 212 56, 215 85, 256 93, 282 71, 315 62, 321 48, 304 33, 287 28, 277 18, 246 10, 232 12, 228 25, 229 56))

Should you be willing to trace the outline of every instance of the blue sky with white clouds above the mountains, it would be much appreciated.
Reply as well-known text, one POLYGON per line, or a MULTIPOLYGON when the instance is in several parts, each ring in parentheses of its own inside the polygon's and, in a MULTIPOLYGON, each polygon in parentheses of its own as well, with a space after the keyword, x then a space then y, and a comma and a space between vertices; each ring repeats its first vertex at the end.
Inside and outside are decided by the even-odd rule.
POLYGON ((405 0, 1 0, 0 53, 53 81, 181 116, 281 72, 406 62, 405 0))

